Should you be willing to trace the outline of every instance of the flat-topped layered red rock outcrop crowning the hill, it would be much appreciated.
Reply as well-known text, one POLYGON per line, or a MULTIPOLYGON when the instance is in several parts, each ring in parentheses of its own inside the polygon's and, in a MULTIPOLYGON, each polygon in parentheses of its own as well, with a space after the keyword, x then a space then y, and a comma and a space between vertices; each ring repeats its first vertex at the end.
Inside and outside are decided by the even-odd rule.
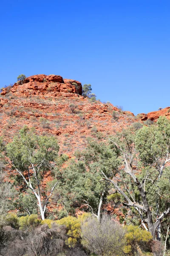
POLYGON ((10 90, 4 88, 1 95, 6 95, 9 91, 24 96, 58 96, 61 93, 67 94, 67 96, 73 96, 73 94, 78 96, 82 95, 82 84, 79 81, 63 79, 62 76, 57 75, 35 75, 27 77, 23 82, 18 81, 10 90))

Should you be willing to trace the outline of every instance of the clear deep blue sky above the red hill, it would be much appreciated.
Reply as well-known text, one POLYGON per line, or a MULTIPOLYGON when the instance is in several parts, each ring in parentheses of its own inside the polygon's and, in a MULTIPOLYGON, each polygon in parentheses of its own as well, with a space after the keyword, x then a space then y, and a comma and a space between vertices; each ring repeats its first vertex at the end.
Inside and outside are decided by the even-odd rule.
POLYGON ((133 113, 170 106, 170 1, 1 0, 0 87, 21 73, 91 84, 133 113))

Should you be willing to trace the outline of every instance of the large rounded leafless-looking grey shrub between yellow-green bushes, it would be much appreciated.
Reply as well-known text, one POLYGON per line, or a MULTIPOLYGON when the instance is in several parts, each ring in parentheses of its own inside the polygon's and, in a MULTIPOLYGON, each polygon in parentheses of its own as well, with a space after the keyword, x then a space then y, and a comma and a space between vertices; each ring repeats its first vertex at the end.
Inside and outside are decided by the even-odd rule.
POLYGON ((98 256, 123 255, 125 230, 104 215, 101 222, 97 218, 88 218, 82 224, 83 246, 98 256))

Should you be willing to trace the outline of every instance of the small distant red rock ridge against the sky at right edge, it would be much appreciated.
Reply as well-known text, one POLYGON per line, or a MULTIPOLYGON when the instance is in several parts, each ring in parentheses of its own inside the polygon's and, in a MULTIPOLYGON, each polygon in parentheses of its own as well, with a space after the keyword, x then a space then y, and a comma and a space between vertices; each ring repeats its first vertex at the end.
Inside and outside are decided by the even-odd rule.
POLYGON ((146 121, 147 119, 150 119, 152 121, 157 121, 159 116, 166 116, 167 119, 170 120, 170 107, 163 108, 158 111, 153 111, 147 114, 141 113, 137 115, 141 121, 146 121))

